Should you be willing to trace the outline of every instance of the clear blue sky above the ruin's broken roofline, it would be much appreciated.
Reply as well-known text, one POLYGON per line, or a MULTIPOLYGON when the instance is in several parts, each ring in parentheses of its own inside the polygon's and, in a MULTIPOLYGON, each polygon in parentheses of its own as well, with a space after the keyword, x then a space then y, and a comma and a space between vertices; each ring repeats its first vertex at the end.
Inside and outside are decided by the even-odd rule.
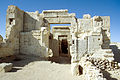
POLYGON ((111 41, 120 42, 120 0, 0 0, 0 35, 5 37, 6 10, 9 5, 16 5, 28 12, 68 9, 69 13, 76 13, 77 18, 83 14, 92 17, 110 16, 111 41))

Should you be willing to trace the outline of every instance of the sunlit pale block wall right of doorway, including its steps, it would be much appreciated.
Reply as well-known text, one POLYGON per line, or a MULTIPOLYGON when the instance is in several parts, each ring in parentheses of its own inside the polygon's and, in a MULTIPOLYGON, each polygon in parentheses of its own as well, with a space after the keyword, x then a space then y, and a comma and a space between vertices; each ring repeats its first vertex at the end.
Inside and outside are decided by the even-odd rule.
MULTIPOLYGON (((75 42, 74 45, 71 47, 72 51, 72 59, 71 59, 71 70, 74 73, 73 69, 76 67, 77 64, 82 57, 86 54, 88 56, 96 57, 101 59, 107 59, 109 61, 113 61, 113 53, 110 51, 109 48, 109 39, 106 39, 110 36, 110 25, 109 17, 94 16, 91 18, 89 14, 83 15, 83 19, 77 19, 78 27, 77 31, 74 32, 75 42), (106 33, 103 33, 103 30, 106 33)), ((77 73, 77 72, 76 72, 77 73)))

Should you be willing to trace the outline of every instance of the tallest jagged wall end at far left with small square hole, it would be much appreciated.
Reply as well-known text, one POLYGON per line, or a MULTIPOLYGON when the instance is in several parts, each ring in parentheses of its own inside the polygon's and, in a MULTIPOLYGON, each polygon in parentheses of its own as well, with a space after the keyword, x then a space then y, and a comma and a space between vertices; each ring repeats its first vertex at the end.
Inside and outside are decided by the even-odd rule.
POLYGON ((15 54, 19 53, 19 37, 23 31, 24 12, 16 6, 9 6, 6 16, 6 44, 15 54))

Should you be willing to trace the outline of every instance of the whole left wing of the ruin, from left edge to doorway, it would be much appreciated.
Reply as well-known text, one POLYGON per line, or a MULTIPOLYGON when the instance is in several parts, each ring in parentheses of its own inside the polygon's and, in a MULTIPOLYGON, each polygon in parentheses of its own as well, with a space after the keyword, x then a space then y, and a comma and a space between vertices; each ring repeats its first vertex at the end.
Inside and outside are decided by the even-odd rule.
POLYGON ((41 57, 48 57, 49 32, 48 28, 45 28, 48 24, 45 25, 45 23, 43 15, 39 14, 38 11, 24 12, 16 6, 8 6, 6 39, 4 42, 0 42, 0 57, 19 53, 37 54, 41 57), (44 28, 41 28, 43 26, 44 28), (39 31, 41 33, 39 33, 39 31), (42 39, 42 41, 40 41, 40 39, 42 39), (28 43, 32 44, 32 47, 29 46, 30 44, 28 43))

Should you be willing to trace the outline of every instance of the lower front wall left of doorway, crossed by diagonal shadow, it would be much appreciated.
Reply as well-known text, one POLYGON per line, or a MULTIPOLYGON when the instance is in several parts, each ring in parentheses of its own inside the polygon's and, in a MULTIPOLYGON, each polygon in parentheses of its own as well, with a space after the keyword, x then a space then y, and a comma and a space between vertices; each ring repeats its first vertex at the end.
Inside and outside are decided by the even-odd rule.
POLYGON ((41 30, 20 33, 20 53, 48 57, 48 36, 41 30))

